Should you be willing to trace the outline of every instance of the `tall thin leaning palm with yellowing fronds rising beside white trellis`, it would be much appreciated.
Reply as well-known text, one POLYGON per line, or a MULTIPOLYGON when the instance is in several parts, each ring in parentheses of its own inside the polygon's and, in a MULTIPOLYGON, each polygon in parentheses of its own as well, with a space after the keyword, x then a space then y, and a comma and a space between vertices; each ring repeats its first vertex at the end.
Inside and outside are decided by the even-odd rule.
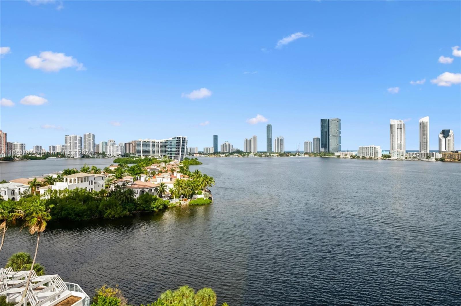
POLYGON ((29 276, 27 277, 26 288, 24 290, 21 302, 24 300, 24 297, 27 294, 27 290, 29 289, 30 277, 35 265, 35 259, 37 258, 40 233, 45 231, 45 228, 47 227, 47 221, 51 219, 50 210, 47 208, 46 204, 47 202, 45 200, 37 199, 24 209, 24 216, 26 220, 25 226, 29 227, 29 233, 31 235, 37 233, 37 246, 35 247, 34 260, 32 260, 32 265, 30 266, 29 276))

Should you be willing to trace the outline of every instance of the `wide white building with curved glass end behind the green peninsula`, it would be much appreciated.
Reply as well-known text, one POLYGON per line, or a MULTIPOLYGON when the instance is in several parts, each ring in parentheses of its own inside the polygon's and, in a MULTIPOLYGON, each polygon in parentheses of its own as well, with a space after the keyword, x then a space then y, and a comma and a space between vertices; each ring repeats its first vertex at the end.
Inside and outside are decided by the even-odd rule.
POLYGON ((136 142, 137 156, 160 156, 174 161, 186 157, 187 137, 177 136, 168 139, 139 139, 136 142))

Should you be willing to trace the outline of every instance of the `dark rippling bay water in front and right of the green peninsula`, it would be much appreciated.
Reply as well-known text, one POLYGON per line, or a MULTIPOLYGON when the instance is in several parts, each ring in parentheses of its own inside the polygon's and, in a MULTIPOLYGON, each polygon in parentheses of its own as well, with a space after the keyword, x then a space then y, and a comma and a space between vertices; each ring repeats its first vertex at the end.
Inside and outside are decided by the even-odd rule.
MULTIPOLYGON (((213 205, 49 225, 38 261, 133 304, 189 284, 231 306, 461 305, 460 163, 201 161, 213 205)), ((34 246, 10 229, 0 262, 34 246)))

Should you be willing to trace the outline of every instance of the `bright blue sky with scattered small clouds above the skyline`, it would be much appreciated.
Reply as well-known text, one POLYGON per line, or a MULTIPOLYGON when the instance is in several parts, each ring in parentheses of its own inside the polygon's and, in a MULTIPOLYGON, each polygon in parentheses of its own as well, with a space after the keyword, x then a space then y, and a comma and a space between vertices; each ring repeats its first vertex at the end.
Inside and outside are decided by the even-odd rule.
POLYGON ((460 16, 459 1, 1 1, 0 127, 28 149, 90 132, 200 150, 255 134, 265 150, 271 123, 302 150, 337 117, 346 150, 388 149, 405 119, 417 150, 428 115, 431 149, 444 128, 461 149, 460 16))

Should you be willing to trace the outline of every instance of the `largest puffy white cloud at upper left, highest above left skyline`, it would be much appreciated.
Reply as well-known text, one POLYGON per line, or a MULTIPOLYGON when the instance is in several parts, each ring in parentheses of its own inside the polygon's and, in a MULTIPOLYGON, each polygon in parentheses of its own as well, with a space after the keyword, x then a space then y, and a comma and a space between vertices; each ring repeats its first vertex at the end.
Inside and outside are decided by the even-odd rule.
POLYGON ((25 60, 25 63, 32 69, 41 69, 43 71, 58 72, 63 68, 75 67, 77 70, 86 70, 82 63, 76 58, 65 56, 64 53, 55 53, 51 51, 41 52, 40 55, 31 56, 25 60))

